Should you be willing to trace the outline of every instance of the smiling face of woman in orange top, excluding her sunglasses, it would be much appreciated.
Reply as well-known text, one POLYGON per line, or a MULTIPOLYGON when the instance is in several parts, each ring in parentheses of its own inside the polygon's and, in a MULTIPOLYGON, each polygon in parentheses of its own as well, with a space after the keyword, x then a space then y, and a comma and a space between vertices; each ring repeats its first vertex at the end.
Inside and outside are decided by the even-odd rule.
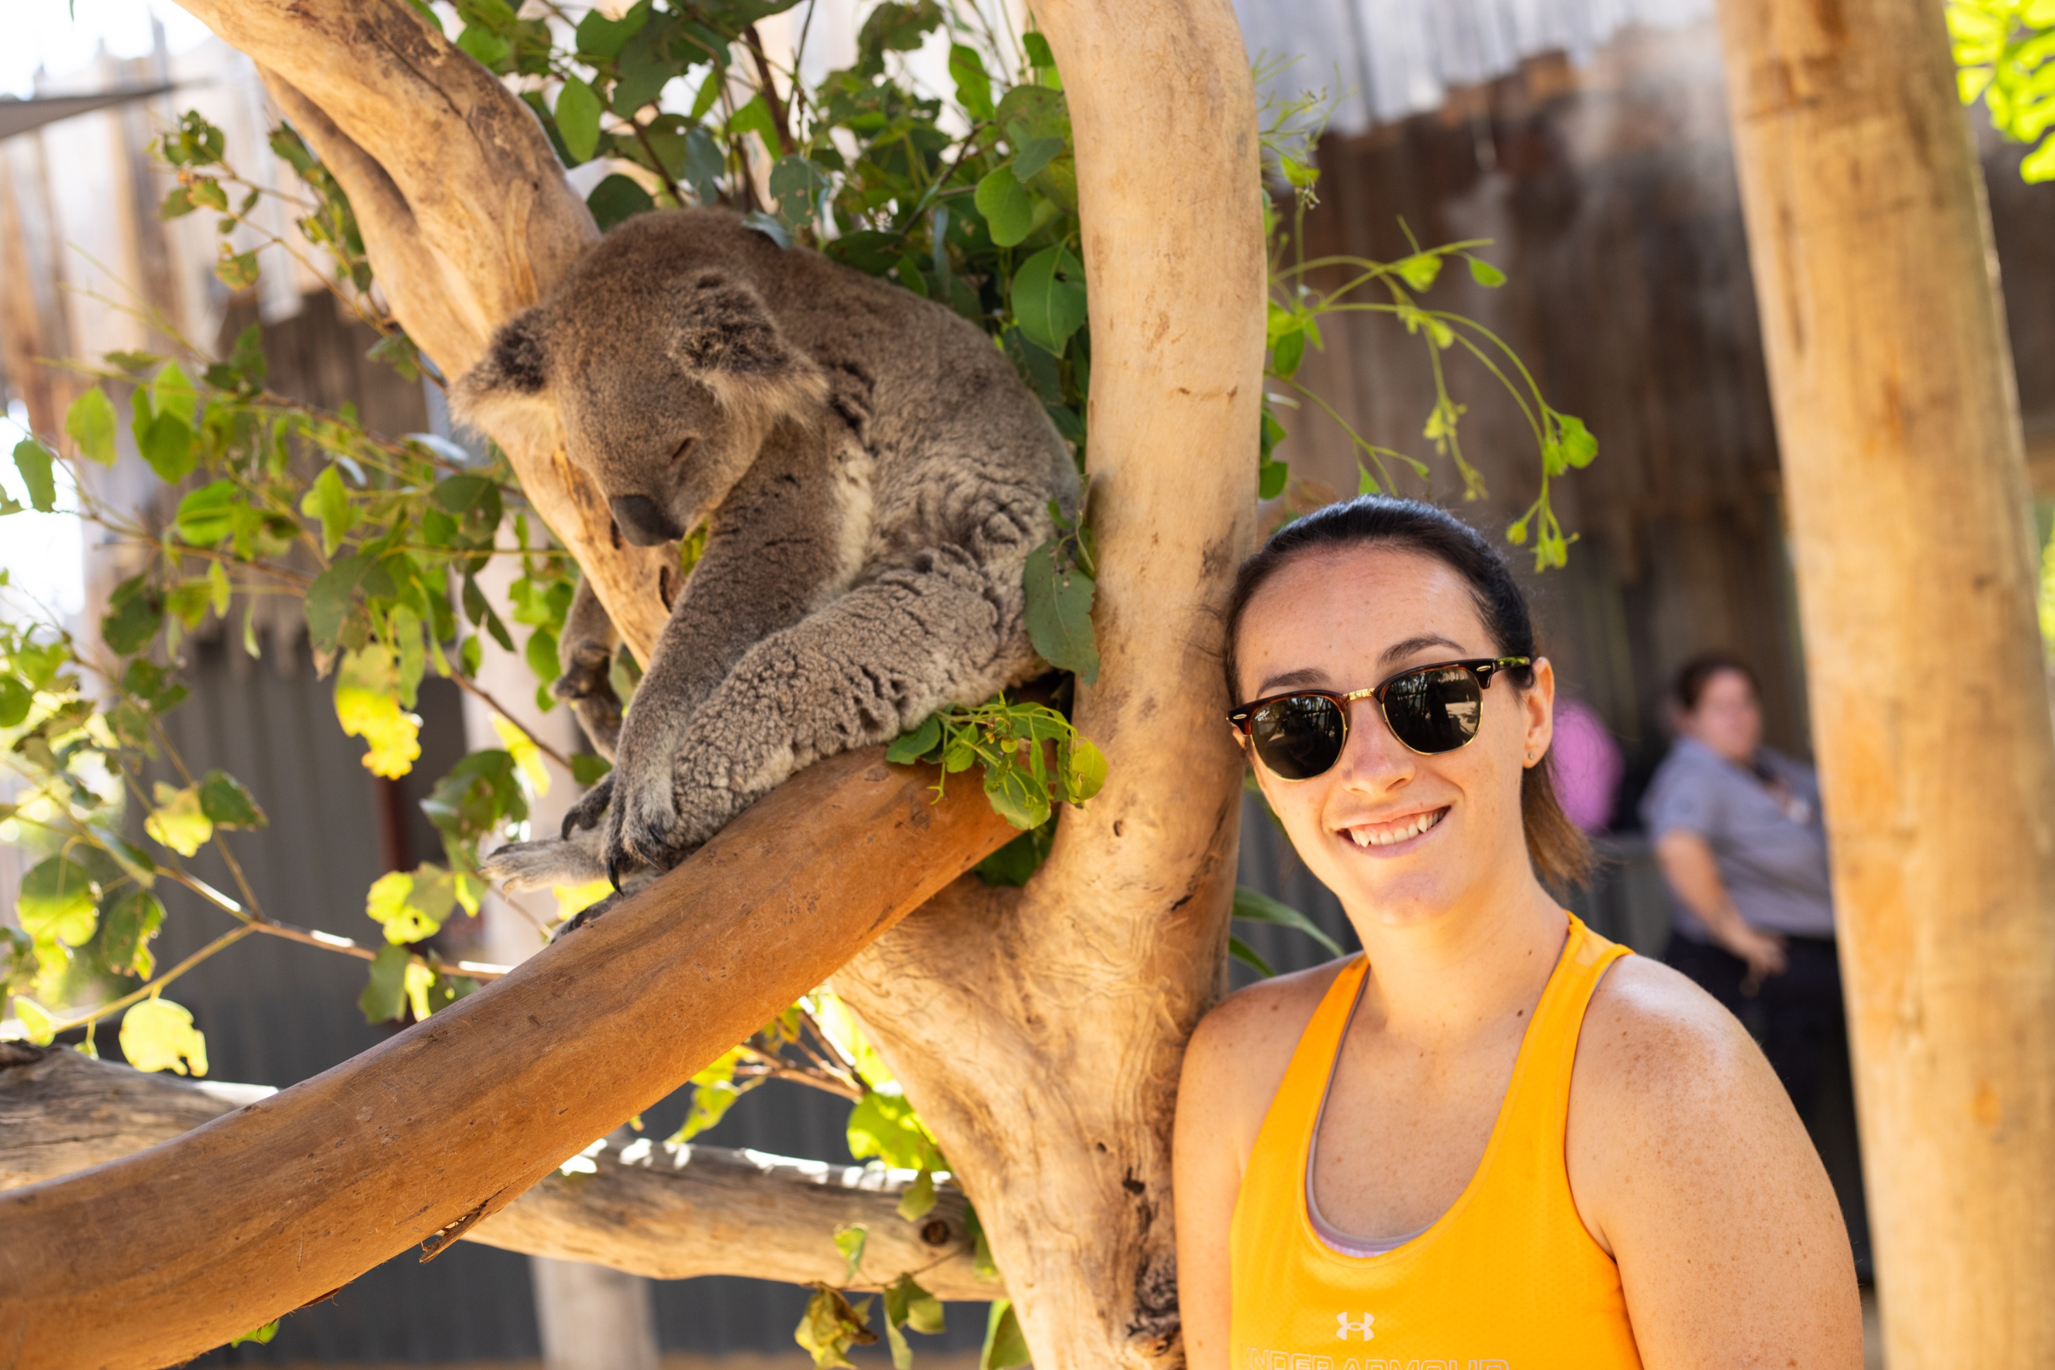
MULTIPOLYGON (((1237 641, 1243 700, 1305 686, 1362 690, 1404 670, 1496 657, 1469 585, 1418 553, 1352 548, 1284 565, 1249 602, 1237 641)), ((1455 752, 1408 750, 1373 698, 1348 709, 1348 746, 1325 774, 1258 783, 1307 867, 1354 918, 1399 926, 1533 883, 1521 772, 1549 744, 1556 680, 1535 661, 1521 692, 1484 692, 1478 735, 1455 752)))

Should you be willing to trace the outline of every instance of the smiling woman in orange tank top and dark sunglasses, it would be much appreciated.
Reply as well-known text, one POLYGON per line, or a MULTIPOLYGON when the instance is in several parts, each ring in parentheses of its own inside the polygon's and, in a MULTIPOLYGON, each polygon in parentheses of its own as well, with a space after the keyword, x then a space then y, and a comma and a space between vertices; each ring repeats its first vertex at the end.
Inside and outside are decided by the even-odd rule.
POLYGON ((1537 879, 1589 861, 1554 676, 1475 532, 1356 499, 1229 612, 1233 725, 1365 955, 1192 1037, 1178 1265, 1194 1370, 1854 1370, 1847 1236, 1741 1025, 1537 879), (1367 688, 1371 686, 1371 688, 1367 688))

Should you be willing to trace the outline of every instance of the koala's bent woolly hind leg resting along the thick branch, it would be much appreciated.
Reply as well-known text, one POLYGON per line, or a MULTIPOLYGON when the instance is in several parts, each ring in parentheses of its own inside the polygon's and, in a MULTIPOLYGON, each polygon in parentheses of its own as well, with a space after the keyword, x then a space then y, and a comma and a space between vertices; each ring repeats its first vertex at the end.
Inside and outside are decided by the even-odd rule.
POLYGON ((606 850, 670 865, 801 766, 1030 670, 1019 569, 931 548, 750 647, 684 727, 670 772, 616 783, 606 850))

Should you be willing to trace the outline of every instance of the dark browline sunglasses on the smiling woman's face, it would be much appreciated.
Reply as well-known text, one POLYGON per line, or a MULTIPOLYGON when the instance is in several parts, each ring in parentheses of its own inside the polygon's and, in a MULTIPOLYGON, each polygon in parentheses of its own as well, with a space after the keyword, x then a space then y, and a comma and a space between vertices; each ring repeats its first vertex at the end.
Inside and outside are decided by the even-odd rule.
POLYGON ((1375 698, 1391 735, 1420 756, 1467 746, 1484 721, 1484 690, 1498 672, 1533 665, 1531 657, 1436 661, 1399 672, 1369 690, 1293 690, 1241 705, 1227 715, 1256 756, 1280 781, 1311 781, 1334 768, 1348 746, 1348 705, 1375 698))

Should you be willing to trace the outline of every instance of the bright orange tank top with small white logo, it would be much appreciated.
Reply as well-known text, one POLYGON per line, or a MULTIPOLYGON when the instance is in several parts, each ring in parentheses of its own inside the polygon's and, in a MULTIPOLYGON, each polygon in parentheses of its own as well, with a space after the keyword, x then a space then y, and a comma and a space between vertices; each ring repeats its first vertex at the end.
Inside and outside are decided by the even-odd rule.
POLYGON ((1570 918, 1478 1173, 1432 1226, 1369 1257, 1325 1245, 1307 1214, 1313 1132, 1369 963, 1342 967, 1241 1177, 1231 1370, 1640 1370, 1619 1267, 1564 1167, 1584 1004, 1623 955, 1570 918))

